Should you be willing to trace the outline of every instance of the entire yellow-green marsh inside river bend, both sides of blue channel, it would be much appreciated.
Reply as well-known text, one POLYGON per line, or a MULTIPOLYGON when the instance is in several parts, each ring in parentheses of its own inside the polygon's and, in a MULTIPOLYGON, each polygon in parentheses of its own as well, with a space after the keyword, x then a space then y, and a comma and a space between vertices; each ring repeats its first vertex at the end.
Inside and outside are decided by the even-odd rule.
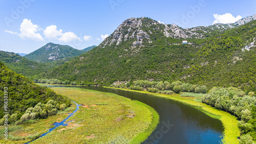
MULTIPOLYGON (((10 125, 8 126, 8 140, 5 140, 3 137, 3 131, 5 129, 5 126, 0 126, 0 143, 26 143, 29 141, 32 141, 31 143, 79 143, 82 142, 82 140, 86 140, 86 142, 82 143, 111 143, 111 142, 126 142, 126 143, 140 143, 144 141, 157 127, 157 124, 159 122, 159 115, 158 113, 150 106, 147 106, 141 102, 138 101, 131 101, 130 99, 126 99, 123 97, 120 97, 116 94, 112 93, 104 93, 104 92, 98 92, 93 90, 84 90, 84 89, 78 89, 78 88, 65 88, 66 90, 63 90, 63 88, 58 87, 52 87, 52 89, 58 89, 62 93, 66 93, 64 96, 71 100, 75 100, 78 104, 86 104, 84 101, 89 101, 90 99, 82 100, 83 96, 86 95, 86 92, 90 92, 90 94, 94 95, 103 95, 102 100, 98 100, 93 102, 91 101, 88 103, 88 105, 91 104, 97 104, 96 107, 79 107, 79 110, 75 113, 79 113, 75 116, 72 116, 68 119, 67 122, 72 121, 71 123, 68 123, 69 126, 60 126, 51 133, 48 133, 48 136, 41 137, 39 139, 36 139, 35 141, 32 141, 33 139, 39 137, 41 134, 46 133, 49 131, 50 128, 52 128, 52 124, 55 122, 61 122, 63 119, 65 119, 68 116, 68 113, 71 113, 75 110, 76 105, 72 103, 71 107, 67 108, 65 111, 59 112, 57 115, 49 116, 46 119, 35 119, 30 122, 26 122, 22 125, 10 125), (70 90, 73 91, 70 91, 70 90), (98 93, 98 94, 96 94, 98 93), (74 94, 74 95, 72 95, 74 94), (73 97, 71 97, 71 95, 73 97), (111 100, 108 98, 116 99, 116 102, 118 101, 117 107, 111 106, 111 100), (119 99, 118 99, 119 98, 119 99), (131 107, 129 107, 131 106, 131 107), (134 111, 135 117, 134 118, 127 118, 125 115, 122 115, 121 117, 124 117, 124 120, 122 121, 115 121, 117 115, 115 117, 112 117, 112 115, 102 115, 105 116, 106 119, 109 119, 109 123, 104 123, 106 125, 111 123, 116 123, 118 125, 110 125, 109 128, 105 128, 102 125, 100 121, 102 121, 102 117, 100 116, 98 108, 102 108, 106 111, 116 111, 116 108, 120 108, 120 110, 116 111, 117 115, 120 116, 122 114, 131 114, 128 110, 133 109, 132 113, 134 111), (125 112, 122 112, 122 111, 125 112), (89 113, 88 113, 89 112, 89 113), (97 118, 98 117, 98 118, 97 118), (74 119, 72 119, 74 118, 74 119), (114 118, 114 121, 112 121, 114 118), (134 123, 137 123, 140 121, 140 118, 144 118, 144 123, 139 123, 138 125, 134 125, 134 123), (89 122, 86 122, 87 120, 90 120, 89 122), (119 124, 121 124, 119 126, 119 124), (86 125, 86 128, 83 128, 82 125, 86 125), (112 129, 112 127, 116 126, 116 129, 112 129), (137 129, 141 129, 140 131, 135 132, 133 127, 136 126, 137 129), (125 130, 123 130, 125 128, 125 130), (93 130, 94 129, 94 130, 93 130), (105 131, 104 131, 105 130, 105 131), (115 132, 116 130, 116 132, 115 132), (144 130, 144 131, 143 131, 144 130), (96 135, 97 132, 100 133, 101 137, 100 139, 104 139, 100 142, 100 139, 98 138, 98 135, 96 135), (140 133, 139 133, 140 132, 140 133), (116 136, 113 135, 113 133, 117 134, 116 136), (121 135, 129 133, 127 135, 121 135), (131 139, 128 139, 131 138, 131 139), (104 142, 105 141, 105 142, 104 142)), ((57 91, 57 90, 56 90, 57 91)), ((92 97, 91 97, 92 98, 92 97)), ((114 114, 115 115, 115 114, 114 114)), ((117 117, 118 118, 118 117, 117 117)))

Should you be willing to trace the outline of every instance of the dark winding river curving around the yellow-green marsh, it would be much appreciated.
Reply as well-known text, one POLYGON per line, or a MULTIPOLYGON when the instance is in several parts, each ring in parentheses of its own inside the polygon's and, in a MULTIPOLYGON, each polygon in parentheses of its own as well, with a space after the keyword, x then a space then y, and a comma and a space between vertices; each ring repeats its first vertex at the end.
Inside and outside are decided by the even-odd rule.
POLYGON ((150 94, 94 86, 79 87, 111 92, 140 101, 153 107, 160 116, 155 131, 143 142, 153 143, 221 143, 223 126, 219 119, 211 118, 198 109, 150 94))

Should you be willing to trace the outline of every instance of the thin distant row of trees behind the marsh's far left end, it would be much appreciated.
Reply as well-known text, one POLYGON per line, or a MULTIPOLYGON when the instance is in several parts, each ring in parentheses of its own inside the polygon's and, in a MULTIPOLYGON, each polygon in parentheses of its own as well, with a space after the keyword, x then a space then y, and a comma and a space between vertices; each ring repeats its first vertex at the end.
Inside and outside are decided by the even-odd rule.
POLYGON ((76 82, 76 81, 60 81, 58 79, 34 79, 34 83, 46 83, 46 84, 63 84, 63 85, 95 85, 95 83, 92 82, 76 82))

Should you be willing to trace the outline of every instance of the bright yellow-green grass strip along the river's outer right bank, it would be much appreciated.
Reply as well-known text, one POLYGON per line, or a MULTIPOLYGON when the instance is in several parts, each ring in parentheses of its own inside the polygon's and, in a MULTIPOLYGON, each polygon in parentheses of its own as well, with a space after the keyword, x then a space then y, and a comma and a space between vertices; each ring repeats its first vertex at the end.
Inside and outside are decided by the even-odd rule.
POLYGON ((178 102, 181 102, 186 105, 193 106, 213 118, 220 119, 220 121, 222 122, 222 124, 224 126, 224 132, 223 132, 223 138, 222 138, 223 143, 239 143, 238 137, 240 136, 240 130, 238 128, 237 117, 234 115, 231 115, 228 112, 219 110, 215 107, 211 107, 207 104, 204 104, 204 103, 198 101, 198 97, 201 98, 201 95, 196 95, 194 93, 190 93, 190 94, 185 93, 184 96, 182 96, 182 94, 169 95, 169 94, 153 93, 153 92, 148 92, 148 91, 124 89, 124 88, 114 88, 114 87, 106 87, 106 86, 104 86, 104 87, 151 94, 156 97, 171 99, 171 100, 178 101, 178 102))

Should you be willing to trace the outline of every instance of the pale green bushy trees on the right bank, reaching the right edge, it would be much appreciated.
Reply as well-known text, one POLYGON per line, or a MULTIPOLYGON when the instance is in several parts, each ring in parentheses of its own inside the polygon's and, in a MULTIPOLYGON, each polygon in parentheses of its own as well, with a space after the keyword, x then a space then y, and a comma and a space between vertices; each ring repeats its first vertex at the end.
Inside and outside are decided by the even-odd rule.
POLYGON ((256 98, 254 92, 248 95, 234 87, 213 87, 203 97, 203 103, 227 111, 240 118, 241 143, 250 143, 256 140, 256 98))

